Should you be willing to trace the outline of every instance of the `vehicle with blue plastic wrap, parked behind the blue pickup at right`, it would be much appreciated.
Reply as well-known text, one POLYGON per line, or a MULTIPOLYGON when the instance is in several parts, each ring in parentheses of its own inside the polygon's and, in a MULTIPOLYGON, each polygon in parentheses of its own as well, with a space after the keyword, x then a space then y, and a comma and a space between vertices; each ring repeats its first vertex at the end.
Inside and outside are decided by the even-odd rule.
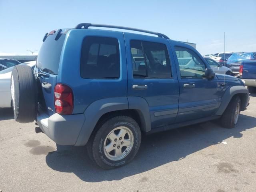
POLYGON ((256 52, 234 53, 227 60, 227 67, 232 69, 234 74, 239 74, 239 67, 242 61, 256 60, 256 52))

